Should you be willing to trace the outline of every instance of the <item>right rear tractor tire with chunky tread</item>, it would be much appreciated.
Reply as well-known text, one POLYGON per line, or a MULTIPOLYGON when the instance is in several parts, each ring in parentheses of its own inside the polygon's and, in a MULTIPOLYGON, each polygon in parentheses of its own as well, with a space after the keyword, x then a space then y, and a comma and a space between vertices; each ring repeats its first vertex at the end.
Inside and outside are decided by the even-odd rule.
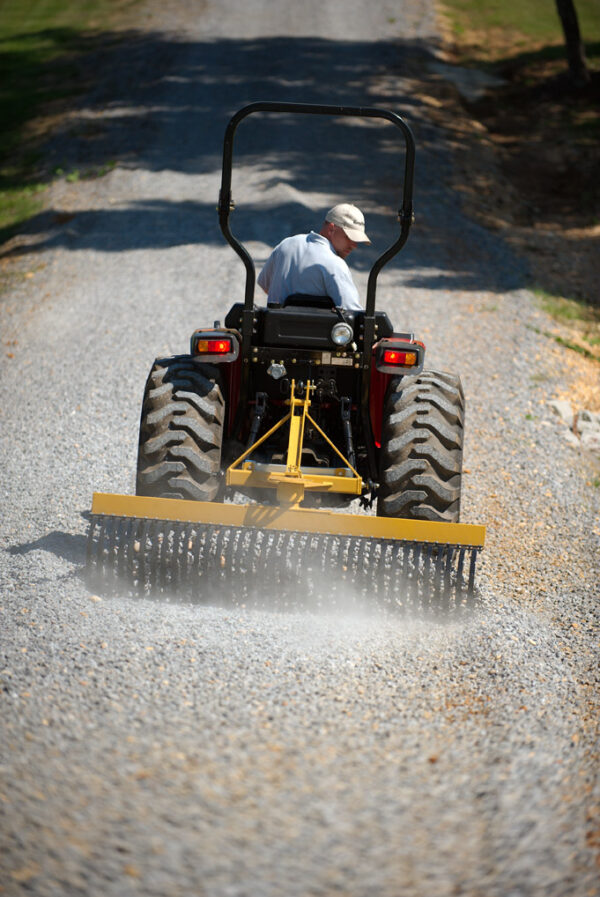
POLYGON ((383 412, 378 516, 458 523, 464 416, 454 374, 394 377, 383 412))

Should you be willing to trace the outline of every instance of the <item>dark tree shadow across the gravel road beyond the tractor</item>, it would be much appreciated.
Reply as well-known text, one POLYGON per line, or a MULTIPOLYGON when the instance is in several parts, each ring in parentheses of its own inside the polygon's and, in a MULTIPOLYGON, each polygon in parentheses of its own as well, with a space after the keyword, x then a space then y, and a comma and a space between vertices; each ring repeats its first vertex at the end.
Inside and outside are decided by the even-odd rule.
MULTIPOLYGON (((412 269, 407 285, 421 288, 505 291, 523 283, 524 272, 509 250, 463 218, 456 196, 444 186, 450 178, 449 147, 428 123, 418 95, 438 78, 429 73, 433 56, 422 42, 193 42, 160 33, 121 34, 115 42, 107 33, 102 49, 102 37, 96 44, 101 49, 79 61, 89 89, 42 147, 48 171, 59 168, 75 180, 115 162, 138 171, 218 175, 226 124, 246 103, 273 99, 392 108, 406 118, 417 140, 417 226, 392 265, 412 269)), ((352 264, 369 269, 397 235, 401 147, 401 135, 386 122, 252 116, 236 134, 238 211, 232 228, 243 241, 272 246, 290 233, 318 227, 332 199, 354 201, 367 211, 374 245, 356 253, 352 264), (252 166, 253 190, 260 172, 264 204, 244 201, 244 166, 252 166)), ((126 202, 115 187, 106 208, 76 214, 50 209, 32 218, 0 254, 223 245, 217 196, 205 195, 206 186, 199 183, 195 187, 190 179, 186 189, 192 195, 181 201, 163 198, 166 191, 181 190, 180 183, 157 181, 163 197, 156 199, 126 202)))

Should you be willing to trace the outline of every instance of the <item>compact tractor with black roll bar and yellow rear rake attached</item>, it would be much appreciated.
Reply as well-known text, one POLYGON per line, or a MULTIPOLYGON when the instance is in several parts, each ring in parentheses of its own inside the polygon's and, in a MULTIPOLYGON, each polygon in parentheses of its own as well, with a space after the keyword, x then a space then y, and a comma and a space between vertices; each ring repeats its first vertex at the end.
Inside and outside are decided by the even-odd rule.
POLYGON ((375 308, 377 276, 413 221, 413 170, 412 133, 393 112, 260 102, 233 116, 218 213, 246 268, 244 301, 196 330, 189 353, 154 362, 136 495, 93 498, 95 583, 206 601, 310 592, 330 603, 365 591, 402 607, 472 601, 485 530, 459 523, 460 379, 427 370, 423 343, 375 308), (364 311, 327 296, 255 304, 254 263, 229 223, 234 134, 253 113, 380 118, 399 129, 400 233, 370 271, 364 311))

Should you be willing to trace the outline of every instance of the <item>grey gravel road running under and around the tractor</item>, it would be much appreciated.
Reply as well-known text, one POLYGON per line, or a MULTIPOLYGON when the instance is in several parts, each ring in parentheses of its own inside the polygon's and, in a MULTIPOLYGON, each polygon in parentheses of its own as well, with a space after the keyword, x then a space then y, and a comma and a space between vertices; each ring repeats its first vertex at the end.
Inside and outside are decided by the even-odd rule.
MULTIPOLYGON (((429 118, 430 0, 135 8, 48 146, 49 208, 0 296, 0 893, 600 894, 598 464, 548 401, 597 368, 544 336, 521 260, 461 212, 429 118), (379 304, 467 396, 463 520, 488 526, 456 619, 90 594, 93 490, 133 489, 155 357, 243 293, 218 231, 246 102, 379 105, 417 139, 417 226, 379 304), (595 466, 594 466, 595 465, 595 466)), ((437 107, 436 107, 437 108, 437 107)), ((257 259, 324 209, 391 242, 388 126, 248 120, 236 233, 257 259)), ((392 128, 393 130, 393 128, 392 128)))

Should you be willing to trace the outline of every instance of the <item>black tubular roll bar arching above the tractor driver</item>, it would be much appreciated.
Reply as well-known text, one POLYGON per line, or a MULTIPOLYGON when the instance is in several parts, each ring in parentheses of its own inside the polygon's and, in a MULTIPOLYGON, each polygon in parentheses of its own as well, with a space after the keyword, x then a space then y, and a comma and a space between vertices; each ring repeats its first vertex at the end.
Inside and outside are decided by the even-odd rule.
MULTIPOLYGON (((315 103, 276 103, 265 101, 250 103, 248 106, 244 106, 235 113, 227 125, 223 141, 223 172, 221 177, 218 210, 221 231, 227 242, 233 249, 235 249, 246 266, 246 292, 244 300, 244 312, 246 315, 252 312, 254 308, 255 270, 254 262, 248 251, 240 241, 234 237, 229 226, 229 215, 234 208, 231 197, 231 168, 233 161, 233 137, 236 128, 244 118, 255 112, 291 112, 309 115, 351 116, 354 118, 383 118, 392 122, 392 124, 396 125, 396 127, 402 131, 406 148, 406 157, 404 162, 402 206, 398 211, 400 235, 398 236, 398 239, 379 256, 369 273, 365 318, 372 318, 375 313, 377 276, 383 266, 386 265, 406 243, 408 232, 413 221, 412 191, 415 165, 415 142, 410 128, 399 115, 396 115, 395 112, 389 112, 386 109, 376 109, 372 106, 323 106, 315 103)), ((365 336, 367 336, 366 332, 365 336)))

